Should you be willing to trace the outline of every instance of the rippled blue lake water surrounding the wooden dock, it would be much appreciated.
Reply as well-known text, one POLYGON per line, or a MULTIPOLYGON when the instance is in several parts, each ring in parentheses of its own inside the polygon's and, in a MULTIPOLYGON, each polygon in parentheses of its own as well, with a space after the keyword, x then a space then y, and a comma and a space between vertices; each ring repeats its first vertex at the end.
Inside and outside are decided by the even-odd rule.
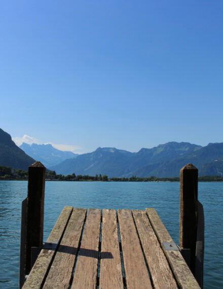
MULTIPOLYGON (((0 181, 0 287, 18 288, 21 202, 26 181, 0 181)), ((223 183, 199 183, 205 212, 204 288, 223 288, 223 183)), ((155 207, 178 243, 179 183, 46 182, 46 240, 65 205, 92 208, 155 207)))

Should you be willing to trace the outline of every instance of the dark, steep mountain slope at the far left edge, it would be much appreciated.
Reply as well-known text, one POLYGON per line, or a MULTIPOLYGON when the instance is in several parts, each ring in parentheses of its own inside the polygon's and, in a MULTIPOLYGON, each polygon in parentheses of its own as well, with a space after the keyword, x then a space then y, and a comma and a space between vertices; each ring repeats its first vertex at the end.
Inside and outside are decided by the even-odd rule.
POLYGON ((33 158, 16 146, 11 135, 0 128, 0 165, 27 171, 28 166, 34 162, 33 158))

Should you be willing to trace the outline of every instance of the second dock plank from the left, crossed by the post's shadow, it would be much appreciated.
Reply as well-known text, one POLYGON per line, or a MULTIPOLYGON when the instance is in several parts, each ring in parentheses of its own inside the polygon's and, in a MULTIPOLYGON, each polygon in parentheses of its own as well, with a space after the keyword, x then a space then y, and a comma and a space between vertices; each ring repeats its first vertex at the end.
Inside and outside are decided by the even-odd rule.
POLYGON ((72 211, 43 288, 69 288, 87 209, 72 211))

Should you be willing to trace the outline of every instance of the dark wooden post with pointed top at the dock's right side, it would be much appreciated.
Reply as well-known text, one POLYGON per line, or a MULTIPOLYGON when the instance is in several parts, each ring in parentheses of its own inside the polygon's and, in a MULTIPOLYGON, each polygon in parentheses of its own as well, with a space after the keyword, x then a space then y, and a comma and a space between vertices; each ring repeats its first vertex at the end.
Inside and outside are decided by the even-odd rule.
POLYGON ((197 241, 198 169, 187 164, 180 170, 179 246, 191 250, 190 269, 195 274, 197 241))

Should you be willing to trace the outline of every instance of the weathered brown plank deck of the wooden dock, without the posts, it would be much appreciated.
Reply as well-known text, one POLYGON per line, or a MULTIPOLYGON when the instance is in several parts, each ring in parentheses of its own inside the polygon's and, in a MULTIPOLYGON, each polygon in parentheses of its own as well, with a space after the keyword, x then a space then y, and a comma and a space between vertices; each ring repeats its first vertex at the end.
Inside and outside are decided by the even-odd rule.
POLYGON ((154 208, 66 206, 22 288, 200 286, 154 208))

